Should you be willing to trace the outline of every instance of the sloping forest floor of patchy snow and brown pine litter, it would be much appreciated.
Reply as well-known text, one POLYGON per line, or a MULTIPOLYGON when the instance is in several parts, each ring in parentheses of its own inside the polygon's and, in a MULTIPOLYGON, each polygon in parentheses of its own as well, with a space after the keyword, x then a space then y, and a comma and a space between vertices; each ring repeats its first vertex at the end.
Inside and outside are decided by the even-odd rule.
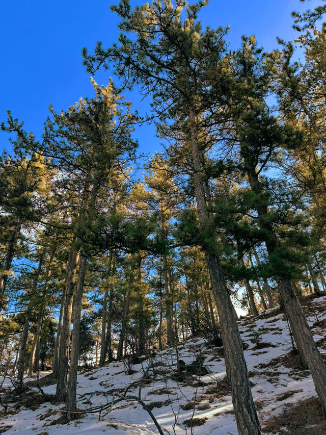
MULTIPOLYGON (((326 357, 326 296, 306 298, 303 304, 314 339, 326 357)), ((275 308, 258 317, 247 316, 238 325, 263 432, 266 435, 325 435, 326 421, 322 418, 311 376, 301 367, 300 359, 292 350, 284 313, 275 308)), ((48 373, 41 375, 44 376, 41 385, 47 383, 46 379, 51 382, 48 373)), ((9 403, 9 414, 0 414, 0 433, 158 433, 148 412, 130 398, 135 396, 141 397, 168 435, 236 435, 231 395, 223 382, 225 375, 223 348, 207 345, 202 337, 194 338, 177 347, 157 351, 140 364, 113 362, 80 373, 78 406, 85 410, 94 408, 94 413, 80 415, 78 420, 68 424, 57 422, 64 404, 51 404, 38 388, 30 386, 19 402, 9 403), (205 355, 206 369, 201 375, 189 370, 178 373, 177 353, 187 365, 199 353, 205 355), (113 397, 122 399, 121 395, 129 399, 108 407, 113 397)), ((47 395, 55 393, 55 385, 42 389, 47 395)))

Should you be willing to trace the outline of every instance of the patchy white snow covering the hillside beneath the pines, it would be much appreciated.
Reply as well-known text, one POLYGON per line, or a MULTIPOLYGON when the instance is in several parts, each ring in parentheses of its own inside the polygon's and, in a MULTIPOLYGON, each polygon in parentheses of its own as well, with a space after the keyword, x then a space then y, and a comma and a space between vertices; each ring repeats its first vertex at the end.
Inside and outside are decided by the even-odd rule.
MULTIPOLYGON (((326 311, 322 309, 326 306, 325 302, 326 296, 312 301, 319 321, 326 318, 326 311)), ((247 344, 244 355, 250 379, 254 384, 252 393, 254 401, 259 404, 257 412, 262 426, 271 416, 280 414, 286 404, 316 397, 314 385, 308 373, 300 375, 297 371, 283 365, 282 361, 268 366, 271 360, 279 359, 291 350, 291 338, 285 316, 284 314, 273 316, 273 311, 277 313, 276 309, 268 310, 271 316, 268 318, 265 312, 264 316, 260 315, 252 319, 247 317, 239 321, 241 339, 247 344), (265 343, 266 347, 254 349, 255 335, 256 337, 258 335, 259 341, 265 343), (294 391, 292 396, 283 400, 279 399, 279 395, 289 391, 294 391)), ((316 323, 315 315, 309 315, 308 322, 312 327, 316 323)), ((313 334, 316 341, 326 337, 324 329, 319 326, 313 328, 313 334)), ((320 350, 325 352, 324 349, 320 350)), ((224 358, 218 356, 221 354, 221 348, 208 348, 203 338, 197 338, 179 344, 177 351, 179 359, 184 360, 186 364, 193 362, 198 353, 206 356, 204 366, 209 369, 209 373, 197 377, 197 380, 201 381, 200 386, 184 385, 182 382, 171 379, 172 369, 176 369, 177 355, 176 348, 170 347, 160 352, 157 351, 155 356, 143 361, 142 364, 133 365, 131 368, 135 373, 132 375, 125 374, 125 366, 122 362, 114 362, 102 368, 93 368, 80 373, 77 378, 78 406, 88 408, 89 404, 85 403, 86 398, 91 401, 92 406, 106 404, 112 400, 114 391, 115 398, 117 398, 117 394, 130 383, 141 379, 149 365, 160 363, 156 365, 156 369, 168 372, 157 375, 150 383, 143 385, 141 398, 146 404, 162 402, 162 406, 154 407, 152 413, 165 433, 168 435, 190 435, 192 433, 194 435, 237 435, 231 395, 225 391, 219 394, 206 393, 209 387, 218 385, 218 381, 225 377, 224 358), (195 412, 193 408, 188 411, 182 410, 181 406, 188 401, 195 401, 195 412), (204 409, 200 409, 201 407, 204 409), (191 429, 183 422, 192 417, 207 420, 203 425, 191 429)), ((6 382, 10 385, 7 379, 5 379, 6 382)), ((53 394, 55 385, 44 387, 43 390, 47 394, 53 394)), ((134 385, 128 390, 128 394, 138 396, 139 385, 134 385)), ((103 411, 100 421, 97 413, 86 414, 86 417, 66 425, 50 425, 60 417, 59 408, 64 408, 64 404, 57 406, 43 403, 35 411, 22 407, 17 414, 3 417, 0 429, 3 426, 12 426, 5 432, 6 435, 40 435, 43 433, 61 435, 63 432, 67 435, 100 435, 102 432, 108 435, 154 435, 158 433, 148 413, 133 400, 116 404, 109 413, 103 411)))

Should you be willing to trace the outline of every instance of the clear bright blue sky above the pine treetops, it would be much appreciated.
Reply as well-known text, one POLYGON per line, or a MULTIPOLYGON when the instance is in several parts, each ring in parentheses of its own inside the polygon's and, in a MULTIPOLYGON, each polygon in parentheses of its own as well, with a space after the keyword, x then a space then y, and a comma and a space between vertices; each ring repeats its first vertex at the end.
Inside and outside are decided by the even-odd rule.
MULTIPOLYGON (((132 0, 132 5, 142 4, 132 0)), ((89 75, 80 56, 83 46, 90 52, 96 41, 109 46, 118 35, 116 14, 110 12, 107 0, 11 0, 2 3, 0 17, 1 98, 0 121, 6 111, 24 121, 25 129, 37 138, 50 104, 57 111, 67 109, 80 96, 93 96, 89 75)), ((210 0, 201 11, 203 26, 231 26, 227 37, 236 48, 243 34, 254 34, 266 50, 276 47, 276 37, 293 40, 293 10, 314 8, 312 0, 210 0)), ((95 76, 106 84, 108 73, 95 76)), ((131 98, 128 98, 131 100, 131 98)), ((132 93, 133 108, 144 113, 147 103, 132 93)), ((8 136, 0 133, 0 150, 9 150, 8 136)), ((143 126, 136 133, 140 150, 153 153, 159 149, 153 126, 143 126)))

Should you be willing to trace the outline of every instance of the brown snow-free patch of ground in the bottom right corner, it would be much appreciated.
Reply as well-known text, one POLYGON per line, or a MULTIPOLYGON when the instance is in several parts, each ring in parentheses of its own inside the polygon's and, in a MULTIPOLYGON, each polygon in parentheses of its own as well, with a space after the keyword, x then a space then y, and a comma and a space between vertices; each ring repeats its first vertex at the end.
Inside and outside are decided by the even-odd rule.
POLYGON ((282 414, 270 418, 262 430, 280 435, 325 435, 326 420, 318 399, 311 398, 286 404, 282 414))

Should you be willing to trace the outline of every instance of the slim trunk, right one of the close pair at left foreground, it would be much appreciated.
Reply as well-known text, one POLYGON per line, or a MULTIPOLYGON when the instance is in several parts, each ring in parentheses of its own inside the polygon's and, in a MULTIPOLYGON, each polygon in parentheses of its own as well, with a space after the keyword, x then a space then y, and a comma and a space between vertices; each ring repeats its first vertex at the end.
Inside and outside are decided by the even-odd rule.
POLYGON ((77 370, 78 370, 78 353, 79 353, 79 334, 80 334, 80 315, 82 313, 83 289, 85 281, 85 273, 87 267, 87 259, 85 255, 80 255, 77 289, 74 298, 74 316, 71 335, 71 356, 69 367, 69 380, 67 387, 66 408, 67 420, 75 420, 78 414, 73 411, 77 409, 76 389, 77 389, 77 370), (70 412, 72 411, 72 412, 70 412))

